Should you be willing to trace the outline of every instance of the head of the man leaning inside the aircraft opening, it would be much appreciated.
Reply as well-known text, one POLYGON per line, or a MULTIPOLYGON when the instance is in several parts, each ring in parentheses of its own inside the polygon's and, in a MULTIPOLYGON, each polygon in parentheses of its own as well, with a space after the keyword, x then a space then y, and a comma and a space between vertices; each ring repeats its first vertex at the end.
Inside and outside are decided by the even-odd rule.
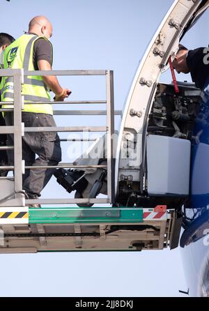
POLYGON ((176 69, 178 73, 189 73, 190 70, 187 66, 187 54, 189 50, 183 45, 179 45, 178 52, 173 61, 173 68, 176 69))

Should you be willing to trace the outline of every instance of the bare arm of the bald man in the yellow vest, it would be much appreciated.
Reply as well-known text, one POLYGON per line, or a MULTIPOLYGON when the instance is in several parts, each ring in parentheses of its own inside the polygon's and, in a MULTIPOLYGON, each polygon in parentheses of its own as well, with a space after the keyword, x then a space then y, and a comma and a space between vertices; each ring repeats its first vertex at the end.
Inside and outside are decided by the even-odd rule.
MULTIPOLYGON (((48 61, 40 60, 38 61, 38 69, 52 70, 52 67, 48 61)), ((62 88, 55 75, 45 75, 42 76, 42 78, 45 84, 47 84, 47 86, 49 87, 49 89, 54 92, 56 101, 63 101, 65 98, 68 98, 71 91, 69 89, 62 88)))

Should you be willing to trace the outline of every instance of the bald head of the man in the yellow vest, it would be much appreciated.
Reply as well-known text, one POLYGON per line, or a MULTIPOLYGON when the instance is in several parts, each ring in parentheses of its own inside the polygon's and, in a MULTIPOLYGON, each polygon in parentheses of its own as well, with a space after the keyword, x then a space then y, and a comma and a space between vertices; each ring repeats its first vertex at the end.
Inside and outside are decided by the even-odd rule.
POLYGON ((45 16, 33 17, 29 22, 29 33, 36 33, 37 36, 52 37, 52 24, 45 16))

